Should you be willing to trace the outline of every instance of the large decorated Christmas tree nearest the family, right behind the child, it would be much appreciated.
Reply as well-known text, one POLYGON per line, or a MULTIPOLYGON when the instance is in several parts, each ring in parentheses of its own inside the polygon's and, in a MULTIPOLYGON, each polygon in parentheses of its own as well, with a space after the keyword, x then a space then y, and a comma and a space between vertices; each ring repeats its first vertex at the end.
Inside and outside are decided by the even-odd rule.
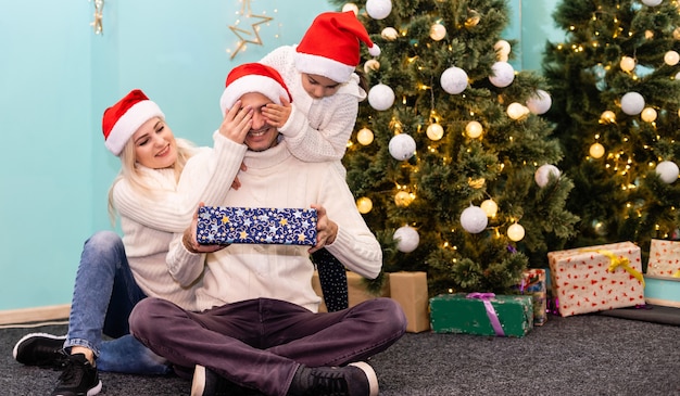
MULTIPOLYGON (((505 293, 572 237, 572 188, 541 116, 541 76, 515 71, 504 0, 368 0, 353 10, 381 49, 343 158, 385 271, 428 273, 431 295, 505 293)), ((363 68, 363 71, 361 71, 363 68)))

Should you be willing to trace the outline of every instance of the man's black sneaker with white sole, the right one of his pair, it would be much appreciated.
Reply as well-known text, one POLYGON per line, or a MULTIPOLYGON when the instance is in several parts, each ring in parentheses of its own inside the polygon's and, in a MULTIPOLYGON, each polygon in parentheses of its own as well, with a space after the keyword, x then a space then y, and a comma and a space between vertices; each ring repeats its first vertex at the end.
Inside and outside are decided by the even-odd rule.
POLYGON ((378 378, 367 363, 345 367, 300 366, 288 389, 289 396, 377 396, 378 378))

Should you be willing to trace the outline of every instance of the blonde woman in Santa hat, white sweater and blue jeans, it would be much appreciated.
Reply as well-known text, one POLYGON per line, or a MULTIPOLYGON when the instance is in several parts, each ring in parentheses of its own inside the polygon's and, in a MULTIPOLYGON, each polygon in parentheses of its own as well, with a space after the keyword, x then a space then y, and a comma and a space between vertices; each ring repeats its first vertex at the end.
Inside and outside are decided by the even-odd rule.
POLYGON ((226 113, 213 135, 212 150, 176 139, 161 108, 141 90, 130 91, 104 112, 105 145, 122 165, 109 193, 109 207, 112 216, 119 215, 123 239, 101 231, 85 242, 65 341, 28 334, 13 352, 24 365, 64 368, 53 395, 98 394, 102 386, 98 369, 139 374, 171 371, 165 359, 129 334, 129 312, 147 296, 186 309, 196 307, 193 291, 200 273, 197 283, 179 284, 166 266, 166 255, 173 234, 191 223, 199 202, 223 202, 232 186, 221 171, 234 163, 225 146, 232 144, 230 140, 242 141, 252 124, 252 110, 239 107, 226 113), (198 189, 196 183, 191 190, 182 189, 185 164, 201 155, 210 156, 210 180, 198 189), (102 334, 113 340, 102 341, 102 334))

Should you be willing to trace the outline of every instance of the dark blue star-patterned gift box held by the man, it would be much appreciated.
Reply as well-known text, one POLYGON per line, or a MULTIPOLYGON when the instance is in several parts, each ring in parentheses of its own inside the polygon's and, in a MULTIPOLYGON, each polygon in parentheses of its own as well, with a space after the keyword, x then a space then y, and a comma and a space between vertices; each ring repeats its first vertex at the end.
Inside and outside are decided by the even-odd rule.
POLYGON ((202 206, 197 239, 201 244, 316 243, 316 209, 202 206))

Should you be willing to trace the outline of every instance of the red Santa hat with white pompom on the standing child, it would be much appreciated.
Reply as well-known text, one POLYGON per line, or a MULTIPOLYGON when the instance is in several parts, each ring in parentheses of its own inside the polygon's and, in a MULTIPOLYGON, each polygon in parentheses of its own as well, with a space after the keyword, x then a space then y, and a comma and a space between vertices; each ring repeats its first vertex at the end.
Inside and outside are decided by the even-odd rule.
POLYGON ((319 14, 295 48, 295 67, 301 73, 347 82, 358 65, 360 41, 370 55, 380 55, 380 48, 353 11, 319 14))

